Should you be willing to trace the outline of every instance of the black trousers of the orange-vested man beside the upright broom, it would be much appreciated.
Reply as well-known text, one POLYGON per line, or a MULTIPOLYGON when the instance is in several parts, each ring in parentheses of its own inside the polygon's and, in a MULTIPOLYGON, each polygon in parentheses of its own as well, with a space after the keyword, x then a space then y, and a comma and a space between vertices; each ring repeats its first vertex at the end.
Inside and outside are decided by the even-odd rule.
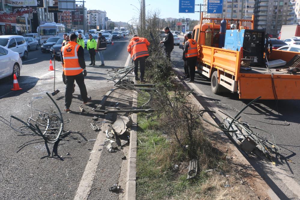
POLYGON ((65 76, 66 78, 66 93, 65 93, 65 107, 70 108, 71 102, 72 102, 72 90, 74 81, 76 81, 82 100, 85 102, 87 100, 87 91, 86 86, 84 84, 84 76, 82 72, 80 74, 74 75, 74 76, 65 76))

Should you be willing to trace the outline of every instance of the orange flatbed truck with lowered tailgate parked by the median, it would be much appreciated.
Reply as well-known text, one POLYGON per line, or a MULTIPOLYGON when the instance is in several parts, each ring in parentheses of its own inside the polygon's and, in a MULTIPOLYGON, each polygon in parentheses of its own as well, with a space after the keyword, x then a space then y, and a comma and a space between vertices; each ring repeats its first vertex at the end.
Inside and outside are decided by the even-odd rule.
MULTIPOLYGON (((223 19, 205 18, 201 15, 200 25, 195 26, 192 32, 192 38, 198 42, 197 71, 211 79, 212 92, 214 94, 225 91, 237 92, 241 99, 255 99, 258 96, 261 96, 261 99, 300 99, 299 72, 288 73, 286 66, 267 68, 266 65, 244 70, 244 66, 241 65, 243 50, 219 48, 221 20, 223 19)), ((253 29, 254 16, 252 20, 225 20, 227 20, 226 29, 230 29, 232 24, 235 24, 234 28, 253 29)), ((299 54, 299 52, 272 50, 267 59, 289 62, 299 54)))

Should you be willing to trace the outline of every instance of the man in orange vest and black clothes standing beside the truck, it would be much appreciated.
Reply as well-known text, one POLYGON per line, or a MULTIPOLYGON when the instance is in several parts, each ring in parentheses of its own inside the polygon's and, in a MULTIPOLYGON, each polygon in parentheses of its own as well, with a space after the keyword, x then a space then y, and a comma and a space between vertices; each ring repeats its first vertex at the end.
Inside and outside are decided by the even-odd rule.
POLYGON ((195 78, 195 67, 197 63, 197 57, 199 54, 197 49, 197 42, 194 39, 192 39, 192 34, 188 33, 186 34, 186 37, 188 40, 184 44, 183 52, 185 53, 186 62, 189 67, 190 79, 187 82, 193 83, 195 78))

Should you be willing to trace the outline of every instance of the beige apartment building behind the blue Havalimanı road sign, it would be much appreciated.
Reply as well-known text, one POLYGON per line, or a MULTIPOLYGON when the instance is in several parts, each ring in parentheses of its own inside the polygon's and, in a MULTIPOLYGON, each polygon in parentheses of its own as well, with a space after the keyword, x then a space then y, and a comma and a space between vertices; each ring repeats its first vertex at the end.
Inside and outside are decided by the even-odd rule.
MULTIPOLYGON (((204 0, 204 5, 207 5, 208 0, 204 0)), ((207 11, 207 6, 203 7, 203 11, 207 11)), ((205 17, 211 18, 229 18, 229 19, 251 19, 254 14, 254 0, 223 0, 222 14, 207 14, 205 17)))

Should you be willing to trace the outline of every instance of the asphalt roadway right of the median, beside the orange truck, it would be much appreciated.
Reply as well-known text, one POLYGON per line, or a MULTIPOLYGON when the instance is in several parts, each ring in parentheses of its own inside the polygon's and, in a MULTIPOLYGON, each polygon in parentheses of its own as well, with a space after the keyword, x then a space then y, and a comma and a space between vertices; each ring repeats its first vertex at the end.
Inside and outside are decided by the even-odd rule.
MULTIPOLYGON (((183 37, 180 37, 182 43, 183 37)), ((173 64, 179 71, 183 71, 182 50, 178 46, 174 46, 171 54, 173 64)), ((204 95, 215 99, 219 103, 214 103, 206 98, 197 97, 204 101, 204 105, 220 109, 230 116, 235 116, 238 112, 230 107, 240 111, 247 105, 250 100, 238 98, 237 93, 226 92, 221 95, 215 95, 211 92, 211 83, 207 78, 196 74, 195 83, 188 84, 200 89, 204 95)), ((263 86, 262 86, 263 87, 263 86)), ((259 88, 258 88, 259 89, 259 88)), ((299 92, 299 91, 298 91, 299 92)), ((248 107, 241 120, 252 126, 264 129, 274 135, 275 143, 281 148, 282 153, 292 162, 277 159, 276 166, 272 166, 269 162, 249 159, 249 162, 259 172, 259 174, 267 181, 271 189, 279 196, 280 199, 300 199, 300 101, 299 100, 280 100, 278 104, 274 100, 259 100, 248 107)), ((223 122, 222 116, 216 114, 216 121, 223 122)), ((266 135, 259 132, 260 135, 266 135)), ((271 135, 266 135, 272 141, 271 135)))

